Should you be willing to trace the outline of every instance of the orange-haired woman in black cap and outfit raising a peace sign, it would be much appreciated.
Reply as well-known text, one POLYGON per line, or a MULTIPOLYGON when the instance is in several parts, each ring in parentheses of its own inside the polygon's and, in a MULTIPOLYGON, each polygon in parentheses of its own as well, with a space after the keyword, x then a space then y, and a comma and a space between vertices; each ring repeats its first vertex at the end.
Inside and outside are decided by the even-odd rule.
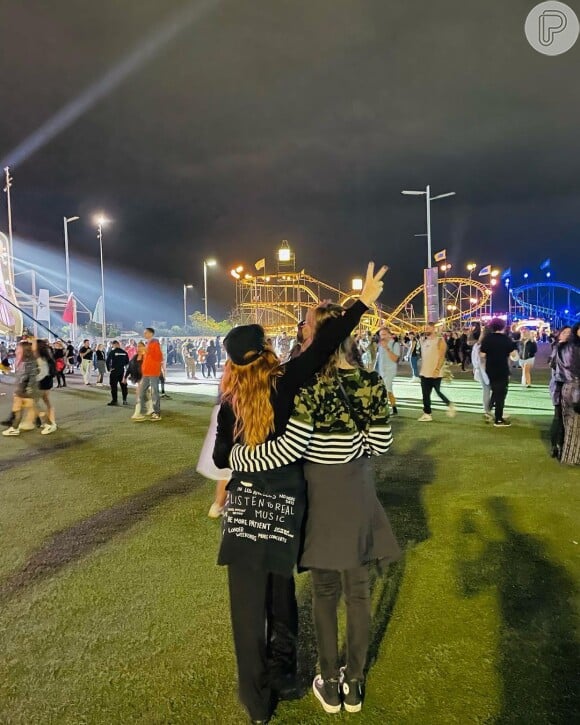
MULTIPOLYGON (((284 433, 296 393, 380 296, 386 271, 383 267, 375 275, 369 264, 360 300, 329 320, 304 352, 283 366, 259 325, 230 332, 224 340, 229 360, 214 449, 219 468, 229 466, 234 443, 253 447, 284 433)), ((305 508, 302 466, 234 470, 228 491, 218 562, 228 566, 240 699, 254 722, 267 722, 276 697, 292 689, 296 674, 293 571, 305 508)))

